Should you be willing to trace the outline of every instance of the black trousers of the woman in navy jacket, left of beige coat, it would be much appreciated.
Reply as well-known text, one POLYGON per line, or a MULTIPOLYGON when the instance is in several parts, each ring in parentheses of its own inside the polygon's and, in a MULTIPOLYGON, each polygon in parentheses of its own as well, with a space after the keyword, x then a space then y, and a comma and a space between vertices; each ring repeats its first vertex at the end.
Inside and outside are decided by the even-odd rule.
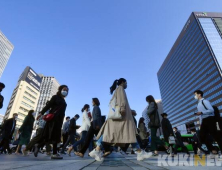
POLYGON ((88 149, 88 147, 90 145, 90 142, 92 141, 94 135, 97 135, 99 133, 99 130, 95 130, 93 128, 93 125, 91 124, 91 126, 90 126, 90 128, 89 128, 89 130, 87 132, 86 139, 85 139, 85 142, 84 142, 84 144, 82 146, 82 149, 79 151, 80 153, 82 153, 84 155, 84 153, 88 149))

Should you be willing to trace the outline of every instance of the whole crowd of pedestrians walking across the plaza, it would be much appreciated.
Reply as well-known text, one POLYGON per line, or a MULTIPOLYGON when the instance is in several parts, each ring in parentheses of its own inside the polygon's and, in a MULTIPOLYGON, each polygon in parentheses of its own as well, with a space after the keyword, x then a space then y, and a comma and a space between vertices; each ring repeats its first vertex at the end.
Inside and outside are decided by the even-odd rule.
MULTIPOLYGON (((4 88, 5 85, 0 83, 0 92, 4 88)), ((34 156, 37 157, 40 150, 46 146, 46 154, 50 155, 51 159, 63 159, 62 154, 66 154, 66 150, 69 156, 74 151, 76 156, 83 158, 89 149, 90 157, 97 161, 103 161, 106 156, 112 153, 113 148, 119 147, 122 154, 127 154, 126 151, 131 145, 131 153, 137 154, 138 161, 158 156, 159 147, 163 147, 166 153, 172 157, 177 155, 178 148, 181 148, 189 156, 190 152, 184 145, 177 127, 172 127, 168 114, 162 113, 162 121, 160 121, 158 105, 152 95, 146 97, 148 107, 145 112, 149 117, 149 124, 146 125, 144 118, 141 117, 137 126, 135 119, 137 113, 130 108, 126 88, 127 81, 124 78, 115 80, 110 87, 112 98, 107 120, 101 114, 99 99, 92 98, 92 113, 90 105, 85 104, 81 110, 82 125, 78 126, 76 124, 80 117, 78 114, 72 118, 65 118, 67 107, 65 98, 68 96, 69 88, 67 85, 60 86, 57 94, 52 96, 36 116, 36 123, 34 123, 34 110, 28 112, 22 126, 17 130, 16 138, 14 138, 14 140, 18 140, 15 154, 22 152, 23 155, 27 155, 29 151, 33 151, 34 156), (65 122, 63 123, 64 118, 65 122), (31 139, 34 124, 36 135, 31 139), (147 126, 150 129, 150 134, 147 126), (157 130, 160 127, 163 130, 164 140, 157 136, 157 130), (60 146, 61 138, 63 144, 60 146), (148 149, 148 144, 150 144, 150 149, 148 149), (25 148, 21 149, 22 145, 25 145, 25 148)), ((195 129, 191 130, 194 154, 197 154, 198 149, 204 154, 219 154, 212 145, 212 140, 216 141, 222 152, 222 122, 218 116, 219 110, 203 98, 201 90, 196 90, 194 95, 194 98, 198 100, 195 116, 199 116, 201 120, 199 133, 195 129), (202 144, 206 145, 207 150, 202 148, 202 144)), ((0 95, 0 108, 3 106, 3 101, 4 98, 0 95)), ((9 144, 15 132, 17 118, 18 114, 14 113, 13 118, 5 120, 2 126, 0 148, 3 152, 7 151, 8 154, 12 153, 9 144)))

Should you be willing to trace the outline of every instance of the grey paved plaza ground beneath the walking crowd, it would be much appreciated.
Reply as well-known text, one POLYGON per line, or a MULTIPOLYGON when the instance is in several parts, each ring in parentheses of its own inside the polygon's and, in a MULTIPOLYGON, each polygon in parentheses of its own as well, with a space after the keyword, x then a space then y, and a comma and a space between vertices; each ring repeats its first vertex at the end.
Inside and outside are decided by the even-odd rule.
MULTIPOLYGON (((163 153, 161 153, 163 155, 163 153)), ((181 154, 182 155, 182 154, 181 154)), ((158 166, 158 157, 151 157, 144 161, 137 161, 136 155, 123 156, 120 153, 112 153, 103 162, 96 162, 86 156, 83 159, 72 155, 64 156, 63 160, 51 160, 50 157, 39 154, 37 158, 33 155, 0 155, 0 170, 219 170, 221 166, 158 166)))

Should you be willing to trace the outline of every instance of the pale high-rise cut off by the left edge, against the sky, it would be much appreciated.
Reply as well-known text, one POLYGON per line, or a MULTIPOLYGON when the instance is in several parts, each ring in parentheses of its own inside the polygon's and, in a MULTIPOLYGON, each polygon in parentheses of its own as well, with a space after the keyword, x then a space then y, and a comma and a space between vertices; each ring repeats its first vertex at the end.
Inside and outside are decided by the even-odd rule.
POLYGON ((9 57, 12 53, 14 46, 0 31, 0 78, 8 63, 9 57))

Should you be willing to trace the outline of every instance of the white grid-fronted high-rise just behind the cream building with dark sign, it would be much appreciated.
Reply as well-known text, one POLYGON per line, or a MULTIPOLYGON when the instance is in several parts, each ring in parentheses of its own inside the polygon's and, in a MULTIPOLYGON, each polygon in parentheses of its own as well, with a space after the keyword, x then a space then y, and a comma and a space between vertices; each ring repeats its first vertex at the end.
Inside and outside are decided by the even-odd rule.
POLYGON ((60 84, 55 79, 55 77, 39 75, 42 78, 42 83, 40 86, 40 97, 36 112, 40 112, 45 106, 46 102, 51 99, 58 91, 60 84))

